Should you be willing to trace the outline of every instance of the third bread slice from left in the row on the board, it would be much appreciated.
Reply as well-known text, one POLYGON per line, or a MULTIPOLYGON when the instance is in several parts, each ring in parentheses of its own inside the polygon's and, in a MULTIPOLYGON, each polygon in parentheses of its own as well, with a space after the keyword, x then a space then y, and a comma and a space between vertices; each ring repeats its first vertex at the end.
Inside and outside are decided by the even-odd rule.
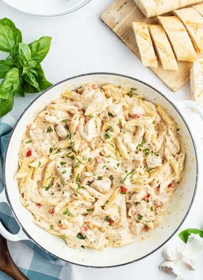
POLYGON ((196 52, 181 20, 177 16, 157 16, 157 19, 163 25, 177 60, 194 62, 196 52))

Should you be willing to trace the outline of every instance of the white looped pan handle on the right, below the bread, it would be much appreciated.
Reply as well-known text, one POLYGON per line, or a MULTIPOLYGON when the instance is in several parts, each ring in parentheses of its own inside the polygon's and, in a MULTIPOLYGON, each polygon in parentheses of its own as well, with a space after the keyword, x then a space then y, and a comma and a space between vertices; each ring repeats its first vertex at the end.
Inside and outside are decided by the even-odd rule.
MULTIPOLYGON (((203 121, 203 110, 196 102, 191 100, 183 100, 183 101, 176 101, 174 102, 174 104, 178 107, 181 113, 183 113, 183 110, 186 107, 195 110, 195 112, 200 116, 201 120, 203 121)), ((200 146, 203 144, 203 137, 195 138, 195 142, 196 142, 197 149, 200 148, 200 146)))

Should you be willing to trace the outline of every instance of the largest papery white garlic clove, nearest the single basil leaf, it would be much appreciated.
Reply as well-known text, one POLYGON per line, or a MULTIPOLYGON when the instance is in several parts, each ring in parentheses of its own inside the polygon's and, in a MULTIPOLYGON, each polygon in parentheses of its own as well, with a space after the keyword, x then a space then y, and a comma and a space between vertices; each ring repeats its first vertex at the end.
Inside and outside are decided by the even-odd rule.
POLYGON ((203 248, 203 238, 199 234, 191 233, 188 237, 187 243, 179 248, 180 253, 185 258, 191 258, 200 252, 203 248))

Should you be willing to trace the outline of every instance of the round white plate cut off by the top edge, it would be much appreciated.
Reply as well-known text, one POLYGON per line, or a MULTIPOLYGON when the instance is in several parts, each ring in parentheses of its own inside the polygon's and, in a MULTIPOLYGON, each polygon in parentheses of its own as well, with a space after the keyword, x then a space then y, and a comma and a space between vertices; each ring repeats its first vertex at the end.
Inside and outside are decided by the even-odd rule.
POLYGON ((11 7, 33 15, 55 16, 71 13, 91 0, 3 0, 11 7))

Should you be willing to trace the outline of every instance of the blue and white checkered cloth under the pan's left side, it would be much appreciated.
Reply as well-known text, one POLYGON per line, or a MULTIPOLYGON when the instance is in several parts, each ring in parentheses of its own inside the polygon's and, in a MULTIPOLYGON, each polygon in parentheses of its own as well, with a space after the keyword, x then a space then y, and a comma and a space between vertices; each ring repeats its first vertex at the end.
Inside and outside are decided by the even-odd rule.
MULTIPOLYGON (((14 124, 15 120, 10 114, 0 119, 0 193, 4 189, 4 154, 14 124)), ((18 233, 19 226, 9 205, 1 201, 0 220, 8 231, 13 234, 18 233)), ((33 242, 29 240, 18 242, 8 241, 8 245, 14 262, 30 280, 78 280, 74 265, 52 257, 33 242)), ((0 271, 0 279, 9 280, 12 278, 0 271)))

